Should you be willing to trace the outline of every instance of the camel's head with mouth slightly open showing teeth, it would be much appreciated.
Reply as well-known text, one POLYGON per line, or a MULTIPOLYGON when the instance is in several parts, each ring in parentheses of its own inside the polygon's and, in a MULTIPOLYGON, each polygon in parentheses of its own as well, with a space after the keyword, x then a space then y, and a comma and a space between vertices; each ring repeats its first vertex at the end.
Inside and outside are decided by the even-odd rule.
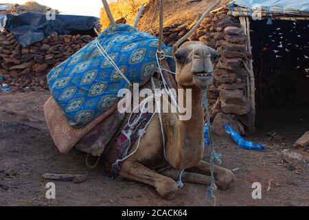
POLYGON ((178 49, 174 47, 176 81, 183 88, 206 88, 213 83, 212 62, 218 53, 198 41, 185 42, 178 49))

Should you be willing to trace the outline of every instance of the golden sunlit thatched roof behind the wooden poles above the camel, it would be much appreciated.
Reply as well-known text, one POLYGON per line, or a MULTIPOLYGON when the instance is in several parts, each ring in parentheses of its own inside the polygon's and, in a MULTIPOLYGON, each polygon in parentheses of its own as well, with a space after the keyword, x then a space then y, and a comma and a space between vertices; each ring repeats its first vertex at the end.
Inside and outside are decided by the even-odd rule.
MULTIPOLYGON (((165 0, 164 5, 164 27, 170 27, 176 24, 191 25, 196 18, 201 16, 207 6, 214 3, 215 0, 165 0)), ((227 3, 231 0, 222 0, 227 3)), ((118 21, 126 21, 133 25, 137 12, 141 4, 146 4, 146 10, 139 22, 139 30, 157 34, 159 32, 159 0, 118 0, 116 3, 110 3, 111 12, 118 21)), ((102 30, 108 27, 109 22, 104 8, 101 11, 102 30)))

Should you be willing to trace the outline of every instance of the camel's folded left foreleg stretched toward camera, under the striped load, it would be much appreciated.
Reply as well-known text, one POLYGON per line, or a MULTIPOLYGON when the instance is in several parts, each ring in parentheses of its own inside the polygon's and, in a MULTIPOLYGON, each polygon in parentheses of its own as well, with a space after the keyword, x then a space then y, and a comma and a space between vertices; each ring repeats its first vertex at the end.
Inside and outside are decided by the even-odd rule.
POLYGON ((132 160, 126 160, 122 164, 119 175, 126 179, 154 186, 163 199, 172 199, 178 190, 176 181, 170 177, 155 173, 155 171, 132 160))

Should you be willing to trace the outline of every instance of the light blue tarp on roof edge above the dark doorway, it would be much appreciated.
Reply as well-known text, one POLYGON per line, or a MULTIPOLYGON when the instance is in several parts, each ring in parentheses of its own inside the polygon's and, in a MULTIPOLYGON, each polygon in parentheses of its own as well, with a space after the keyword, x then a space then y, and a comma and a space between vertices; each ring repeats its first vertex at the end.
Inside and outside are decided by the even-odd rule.
POLYGON ((308 0, 233 0, 227 5, 229 7, 240 6, 251 11, 264 10, 276 14, 309 16, 308 0))

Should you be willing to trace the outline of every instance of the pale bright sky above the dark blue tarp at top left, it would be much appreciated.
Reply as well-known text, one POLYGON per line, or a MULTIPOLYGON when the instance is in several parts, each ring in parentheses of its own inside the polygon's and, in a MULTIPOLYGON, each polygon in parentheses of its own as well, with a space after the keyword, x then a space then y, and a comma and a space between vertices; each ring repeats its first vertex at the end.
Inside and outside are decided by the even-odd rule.
MULTIPOLYGON (((0 3, 23 4, 31 0, 0 0, 0 3)), ((108 0, 115 1, 115 0, 108 0)), ((101 0, 36 0, 41 5, 57 9, 61 14, 88 15, 100 17, 101 0)))

